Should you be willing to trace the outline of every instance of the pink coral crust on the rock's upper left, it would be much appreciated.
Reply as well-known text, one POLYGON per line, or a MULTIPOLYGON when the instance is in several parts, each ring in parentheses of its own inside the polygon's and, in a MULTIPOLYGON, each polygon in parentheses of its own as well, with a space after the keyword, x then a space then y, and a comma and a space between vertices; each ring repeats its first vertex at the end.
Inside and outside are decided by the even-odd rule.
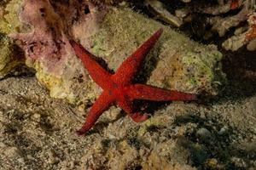
POLYGON ((85 1, 72 3, 25 0, 20 20, 33 29, 31 32, 11 35, 19 40, 18 43, 29 60, 38 61, 43 65, 44 71, 55 76, 63 74, 67 66, 71 66, 76 59, 68 42, 69 37, 79 36, 76 32, 73 33, 77 31, 75 26, 83 31, 89 30, 89 34, 90 22, 95 22, 97 18, 96 14, 90 13, 90 8, 95 8, 92 4, 85 1))

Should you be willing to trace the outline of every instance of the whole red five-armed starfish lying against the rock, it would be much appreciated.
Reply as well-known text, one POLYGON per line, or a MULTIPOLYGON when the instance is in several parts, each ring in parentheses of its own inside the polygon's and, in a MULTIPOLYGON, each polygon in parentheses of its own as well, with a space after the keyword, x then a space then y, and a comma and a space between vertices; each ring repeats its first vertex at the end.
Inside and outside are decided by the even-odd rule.
POLYGON ((82 128, 77 131, 82 135, 90 130, 96 123, 103 111, 106 111, 110 105, 116 103, 121 107, 134 122, 143 122, 148 116, 134 113, 132 109, 132 101, 134 99, 148 99, 154 101, 169 100, 194 100, 195 94, 184 94, 177 91, 170 91, 161 88, 155 88, 149 85, 133 84, 132 79, 136 75, 138 69, 143 63, 143 59, 153 48, 154 43, 159 39, 163 29, 156 31, 143 45, 137 49, 134 54, 125 59, 115 74, 111 74, 102 68, 94 58, 80 44, 70 41, 74 48, 75 54, 82 60, 85 69, 89 72, 90 77, 103 89, 102 94, 94 105, 92 105, 86 122, 82 128))

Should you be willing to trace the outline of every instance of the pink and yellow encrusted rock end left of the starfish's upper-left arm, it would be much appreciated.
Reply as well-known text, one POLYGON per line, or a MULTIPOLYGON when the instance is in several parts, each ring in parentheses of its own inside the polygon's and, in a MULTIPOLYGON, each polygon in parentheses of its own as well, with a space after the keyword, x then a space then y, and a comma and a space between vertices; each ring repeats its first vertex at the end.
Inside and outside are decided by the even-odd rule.
MULTIPOLYGON (((55 8, 59 10, 57 14, 49 1, 25 0, 20 18, 22 22, 33 26, 33 31, 10 35, 24 49, 26 65, 36 69, 38 80, 49 88, 50 95, 55 98, 66 98, 72 103, 90 99, 90 93, 94 93, 93 90, 88 93, 86 90, 81 92, 79 89, 83 87, 83 85, 78 86, 81 81, 84 87, 88 87, 90 80, 73 54, 68 42, 69 30, 67 30, 76 20, 76 15, 79 15, 80 20, 84 20, 84 25, 90 28, 91 25, 87 22, 90 22, 95 14, 93 12, 84 14, 84 8, 91 7, 89 5, 74 3, 73 8, 68 8, 65 3, 56 3, 55 8), (61 18, 64 13, 68 13, 65 19, 61 18), (87 19, 89 21, 86 22, 87 19), (87 94, 84 95, 86 99, 83 94, 87 94)), ((90 9, 93 10, 93 8, 90 9)))

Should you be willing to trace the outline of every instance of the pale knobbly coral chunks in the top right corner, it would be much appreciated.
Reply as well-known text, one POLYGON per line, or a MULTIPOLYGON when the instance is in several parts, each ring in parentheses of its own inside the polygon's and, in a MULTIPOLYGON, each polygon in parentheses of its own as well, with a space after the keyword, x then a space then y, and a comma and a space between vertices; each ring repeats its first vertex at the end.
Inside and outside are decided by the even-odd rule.
POLYGON ((248 50, 255 50, 255 45, 254 48, 251 47, 255 37, 247 38, 247 34, 253 30, 252 20, 255 15, 253 14, 253 11, 255 11, 255 1, 244 0, 229 1, 228 3, 219 4, 219 6, 215 8, 202 9, 202 13, 206 12, 207 14, 215 15, 210 17, 208 21, 212 26, 212 31, 217 31, 219 37, 224 37, 231 28, 236 28, 234 35, 228 37, 222 43, 224 49, 232 51, 236 51, 247 44, 248 50), (225 10, 221 10, 221 8, 224 7, 226 7, 225 10), (227 14, 232 10, 238 10, 239 12, 233 15, 228 14, 226 17, 221 16, 221 14, 227 14), (242 24, 246 20, 248 26, 242 24))

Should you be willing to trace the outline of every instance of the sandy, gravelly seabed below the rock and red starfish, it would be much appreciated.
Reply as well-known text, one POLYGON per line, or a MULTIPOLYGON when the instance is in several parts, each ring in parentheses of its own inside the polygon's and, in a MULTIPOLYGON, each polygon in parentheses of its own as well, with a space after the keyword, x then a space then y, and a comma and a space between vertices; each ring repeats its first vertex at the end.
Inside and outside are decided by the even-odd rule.
POLYGON ((253 169, 253 83, 229 86, 224 96, 207 101, 149 103, 152 116, 143 123, 111 107, 78 137, 74 132, 88 110, 51 99, 35 77, 5 78, 0 169, 253 169))

